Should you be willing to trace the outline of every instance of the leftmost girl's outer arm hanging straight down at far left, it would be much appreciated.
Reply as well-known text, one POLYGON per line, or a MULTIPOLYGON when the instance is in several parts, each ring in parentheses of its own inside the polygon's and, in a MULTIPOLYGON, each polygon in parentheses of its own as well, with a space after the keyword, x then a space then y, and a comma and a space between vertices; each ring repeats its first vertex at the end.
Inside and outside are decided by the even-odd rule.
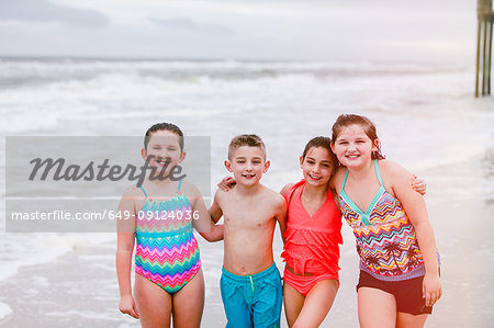
POLYGON ((117 211, 120 219, 116 222, 115 267, 120 290, 119 309, 123 314, 128 314, 138 319, 139 313, 132 296, 131 284, 132 253, 135 242, 135 218, 137 217, 135 213, 135 191, 133 188, 125 191, 117 211))

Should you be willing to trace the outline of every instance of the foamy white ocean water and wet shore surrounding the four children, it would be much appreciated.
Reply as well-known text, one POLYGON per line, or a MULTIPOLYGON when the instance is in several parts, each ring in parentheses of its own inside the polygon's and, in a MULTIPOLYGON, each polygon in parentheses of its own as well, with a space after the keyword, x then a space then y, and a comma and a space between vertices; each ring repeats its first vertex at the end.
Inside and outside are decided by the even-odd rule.
MULTIPOLYGON (((378 126, 383 151, 428 183, 444 297, 430 327, 490 327, 494 312, 494 101, 473 98, 469 64, 0 59, 2 136, 139 136, 157 122, 211 136, 211 191, 229 139, 256 133, 274 189, 300 179, 305 143, 341 113, 378 126), (487 305, 487 306, 486 306, 487 305)), ((4 224, 5 139, 0 140, 4 224)), ((139 149, 136 149, 139 151, 139 149)), ((209 199, 206 199, 206 202, 209 199)), ((113 234, 0 233, 0 326, 137 327, 117 312, 113 234), (41 314, 47 314, 41 316, 41 314)), ((341 287, 322 327, 358 327, 357 258, 344 228, 341 287)), ((204 327, 224 325, 222 244, 201 240, 204 327)), ((280 264, 280 238, 274 256, 280 264)))

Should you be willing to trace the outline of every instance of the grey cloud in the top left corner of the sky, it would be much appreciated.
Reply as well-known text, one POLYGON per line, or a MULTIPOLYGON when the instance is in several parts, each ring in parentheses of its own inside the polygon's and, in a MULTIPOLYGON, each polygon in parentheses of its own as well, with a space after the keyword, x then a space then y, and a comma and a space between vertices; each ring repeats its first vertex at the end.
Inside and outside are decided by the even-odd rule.
POLYGON ((1 0, 0 21, 60 22, 67 25, 103 27, 106 15, 90 9, 74 8, 49 0, 1 0))

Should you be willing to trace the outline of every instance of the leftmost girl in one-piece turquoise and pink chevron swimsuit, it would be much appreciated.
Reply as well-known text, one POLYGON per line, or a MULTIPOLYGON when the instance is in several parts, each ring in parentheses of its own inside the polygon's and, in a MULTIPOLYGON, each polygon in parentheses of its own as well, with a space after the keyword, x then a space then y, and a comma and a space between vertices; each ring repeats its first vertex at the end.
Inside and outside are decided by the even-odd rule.
MULTIPOLYGON (((182 132, 170 123, 153 125, 146 132, 142 156, 151 174, 169 177, 186 157, 182 132)), ((200 327, 204 278, 193 227, 206 240, 216 241, 223 239, 223 225, 211 219, 192 183, 157 178, 162 177, 148 177, 142 185, 128 188, 119 205, 119 308, 141 318, 142 327, 170 327, 171 317, 173 327, 200 327)))

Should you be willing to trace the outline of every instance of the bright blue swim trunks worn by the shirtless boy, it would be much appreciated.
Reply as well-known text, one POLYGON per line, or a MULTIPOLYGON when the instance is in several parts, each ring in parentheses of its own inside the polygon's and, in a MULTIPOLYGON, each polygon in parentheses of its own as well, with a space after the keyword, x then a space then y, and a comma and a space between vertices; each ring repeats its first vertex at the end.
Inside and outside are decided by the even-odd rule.
POLYGON ((220 289, 226 328, 280 327, 283 296, 274 263, 254 275, 236 275, 223 268, 220 289))

